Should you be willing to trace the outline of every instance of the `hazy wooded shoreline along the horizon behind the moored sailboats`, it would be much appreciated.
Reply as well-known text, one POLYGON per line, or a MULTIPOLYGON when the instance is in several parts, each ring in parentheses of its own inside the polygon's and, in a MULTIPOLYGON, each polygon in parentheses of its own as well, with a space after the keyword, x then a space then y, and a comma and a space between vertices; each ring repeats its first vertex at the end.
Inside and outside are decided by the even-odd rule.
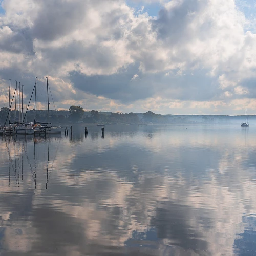
MULTIPOLYGON (((9 108, 3 107, 0 111, 1 125, 4 125, 9 108)), ((24 117, 23 113, 23 117, 24 117)), ((10 120, 19 121, 22 113, 11 110, 10 120)), ((152 111, 145 113, 121 113, 121 112, 99 112, 97 110, 84 111, 81 106, 70 106, 69 110, 29 110, 25 121, 49 122, 53 124, 64 123, 104 123, 104 124, 229 124, 239 123, 242 116, 221 115, 161 115, 152 111), (48 115, 49 114, 49 115, 48 115)), ((250 116, 250 120, 256 121, 256 116, 250 116)), ((254 122, 255 122, 254 121, 254 122)))

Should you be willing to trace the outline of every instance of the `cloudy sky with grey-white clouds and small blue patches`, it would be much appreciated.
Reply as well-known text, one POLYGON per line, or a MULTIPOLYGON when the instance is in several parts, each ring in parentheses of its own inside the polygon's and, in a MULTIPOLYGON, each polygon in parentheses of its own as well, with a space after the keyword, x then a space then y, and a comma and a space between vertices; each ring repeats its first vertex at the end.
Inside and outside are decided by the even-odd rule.
POLYGON ((0 105, 16 81, 45 109, 256 114, 251 0, 0 0, 0 105), (53 101, 51 100, 51 101, 53 101))

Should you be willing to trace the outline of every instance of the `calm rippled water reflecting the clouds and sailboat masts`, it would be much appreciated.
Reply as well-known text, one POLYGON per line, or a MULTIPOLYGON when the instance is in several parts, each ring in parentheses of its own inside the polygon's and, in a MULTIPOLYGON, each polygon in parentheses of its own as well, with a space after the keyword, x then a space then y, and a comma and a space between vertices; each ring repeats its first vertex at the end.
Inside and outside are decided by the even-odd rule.
POLYGON ((0 255, 255 255, 256 126, 0 140, 0 255))

